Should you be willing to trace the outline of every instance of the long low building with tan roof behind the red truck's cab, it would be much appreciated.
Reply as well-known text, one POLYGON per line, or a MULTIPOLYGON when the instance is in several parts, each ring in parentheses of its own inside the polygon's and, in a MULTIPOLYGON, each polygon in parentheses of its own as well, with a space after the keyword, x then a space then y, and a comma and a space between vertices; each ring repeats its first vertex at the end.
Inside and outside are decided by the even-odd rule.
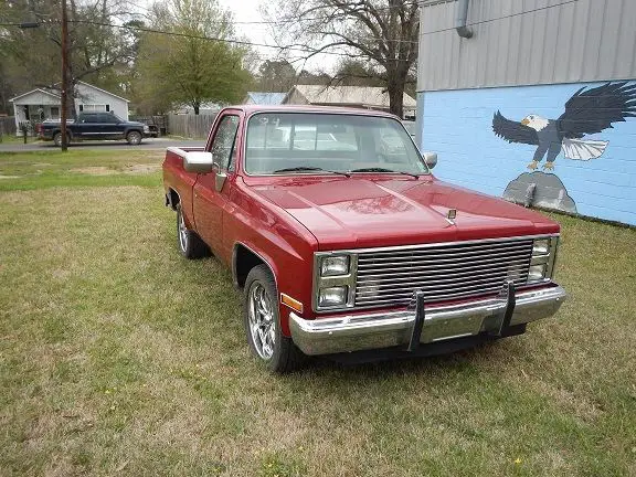
MULTIPOLYGON (((286 94, 283 104, 347 106, 389 110, 386 88, 377 86, 296 85, 286 94)), ((404 93, 404 116, 414 116, 415 99, 404 93)))

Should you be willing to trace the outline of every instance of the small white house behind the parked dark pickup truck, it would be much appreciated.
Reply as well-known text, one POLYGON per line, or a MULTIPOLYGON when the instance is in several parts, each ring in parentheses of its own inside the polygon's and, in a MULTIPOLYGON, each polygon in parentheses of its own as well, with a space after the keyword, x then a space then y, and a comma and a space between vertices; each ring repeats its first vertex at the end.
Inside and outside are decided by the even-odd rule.
MULTIPOLYGON (((113 112, 121 119, 128 120, 129 100, 93 86, 88 83, 77 82, 75 110, 82 112, 113 112)), ((54 88, 35 88, 28 93, 9 99, 13 103, 17 135, 22 136, 20 123, 45 119, 60 119, 60 91, 54 88)))

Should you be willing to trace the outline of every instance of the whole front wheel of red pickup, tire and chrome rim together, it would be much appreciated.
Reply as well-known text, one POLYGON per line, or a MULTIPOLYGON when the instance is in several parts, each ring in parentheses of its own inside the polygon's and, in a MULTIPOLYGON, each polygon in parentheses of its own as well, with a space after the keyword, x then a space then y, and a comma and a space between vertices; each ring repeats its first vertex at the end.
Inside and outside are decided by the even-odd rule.
POLYGON ((266 265, 255 266, 245 280, 243 321, 247 342, 269 371, 286 373, 296 369, 303 354, 280 330, 276 282, 266 265))

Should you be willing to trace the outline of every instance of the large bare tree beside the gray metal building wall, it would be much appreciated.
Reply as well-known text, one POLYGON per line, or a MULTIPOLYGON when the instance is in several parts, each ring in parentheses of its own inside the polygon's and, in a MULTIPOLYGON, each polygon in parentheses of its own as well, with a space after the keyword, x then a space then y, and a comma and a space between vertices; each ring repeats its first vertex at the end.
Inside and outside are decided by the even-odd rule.
POLYGON ((391 112, 402 116, 404 88, 417 59, 416 0, 275 0, 265 15, 290 53, 306 59, 339 54, 379 68, 391 112))

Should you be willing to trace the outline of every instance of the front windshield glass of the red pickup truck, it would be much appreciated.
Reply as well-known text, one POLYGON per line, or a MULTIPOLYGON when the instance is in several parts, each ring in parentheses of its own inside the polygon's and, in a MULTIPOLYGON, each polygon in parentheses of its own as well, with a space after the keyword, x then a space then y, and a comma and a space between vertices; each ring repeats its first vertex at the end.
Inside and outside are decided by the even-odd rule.
POLYGON ((247 124, 250 174, 428 173, 404 127, 374 116, 261 113, 247 124))

